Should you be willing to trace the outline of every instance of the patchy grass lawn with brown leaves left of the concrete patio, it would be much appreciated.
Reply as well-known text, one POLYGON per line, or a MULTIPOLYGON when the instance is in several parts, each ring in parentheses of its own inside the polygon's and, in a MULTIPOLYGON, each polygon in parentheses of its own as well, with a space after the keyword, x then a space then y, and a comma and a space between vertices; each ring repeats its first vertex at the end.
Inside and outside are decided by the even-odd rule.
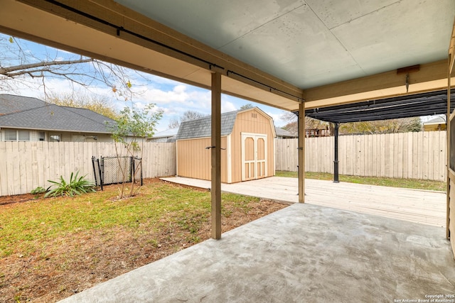
MULTIPOLYGON (((118 186, 74 198, 2 197, 0 302, 56 302, 210 238, 210 192, 144 181, 138 197, 120 201, 118 186)), ((223 232, 283 207, 223 194, 223 232)))

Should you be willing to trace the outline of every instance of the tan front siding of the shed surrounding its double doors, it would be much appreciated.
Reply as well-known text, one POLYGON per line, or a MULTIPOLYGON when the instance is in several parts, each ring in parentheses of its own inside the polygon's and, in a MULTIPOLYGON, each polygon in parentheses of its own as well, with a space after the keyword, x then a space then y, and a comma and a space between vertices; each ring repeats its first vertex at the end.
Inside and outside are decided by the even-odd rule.
POLYGON ((267 176, 274 175, 274 133, 272 121, 256 109, 237 114, 231 133, 232 182, 242 181, 242 134, 257 133, 267 135, 267 176))

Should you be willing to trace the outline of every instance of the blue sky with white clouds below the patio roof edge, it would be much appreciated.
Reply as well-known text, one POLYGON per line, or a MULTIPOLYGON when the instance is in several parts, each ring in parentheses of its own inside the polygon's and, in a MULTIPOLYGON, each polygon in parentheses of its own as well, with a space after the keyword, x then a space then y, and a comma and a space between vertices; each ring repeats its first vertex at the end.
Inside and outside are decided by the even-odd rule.
MULTIPOLYGON (((14 38, 14 42, 10 42, 11 36, 0 33, 0 64, 5 66, 18 65, 26 62, 38 62, 46 60, 68 60, 68 58, 78 57, 64 50, 57 50, 45 45, 33 43, 27 40, 14 38), (18 49, 17 45, 21 45, 18 49), (25 59, 24 59, 25 58, 25 59)), ((90 65, 85 65, 79 70, 84 75, 90 75, 90 65)), ((108 87, 103 82, 91 81, 89 78, 80 77, 81 81, 92 82, 90 89, 77 87, 74 82, 70 82, 63 77, 49 77, 45 79, 26 80, 26 84, 20 81, 14 82, 14 89, 2 87, 0 85, 0 94, 18 94, 25 97, 36 97, 44 99, 45 92, 52 94, 68 94, 71 92, 82 92, 93 97, 106 97, 117 111, 120 111, 124 106, 136 106, 143 108, 147 104, 156 104, 156 109, 163 111, 163 118, 156 126, 156 132, 165 131, 168 129, 168 124, 171 119, 178 120, 180 116, 188 110, 198 111, 201 114, 210 115, 210 91, 201 89, 181 82, 176 82, 171 79, 149 75, 141 72, 127 70, 127 78, 131 79, 132 92, 134 95, 131 99, 125 101, 124 95, 120 95, 121 89, 113 92, 112 87, 108 87)), ((14 81, 14 80, 9 80, 14 81)), ((221 111, 235 111, 240 109, 240 106, 252 104, 258 106, 259 109, 272 116, 275 126, 281 127, 288 123, 282 120, 284 111, 275 109, 271 106, 264 106, 245 99, 239 99, 226 94, 221 98, 221 111)))

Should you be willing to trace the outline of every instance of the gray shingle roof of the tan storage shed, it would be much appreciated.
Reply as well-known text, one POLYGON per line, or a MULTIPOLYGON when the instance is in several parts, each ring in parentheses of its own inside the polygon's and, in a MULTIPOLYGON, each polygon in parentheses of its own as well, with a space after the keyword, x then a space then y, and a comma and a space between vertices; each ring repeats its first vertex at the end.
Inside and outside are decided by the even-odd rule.
MULTIPOLYGON (((234 128, 235 118, 239 111, 230 111, 221 114, 221 136, 227 136, 232 133, 234 128)), ((184 121, 178 128, 177 140, 189 138, 207 138, 211 136, 212 130, 212 117, 207 116, 204 118, 184 121)))

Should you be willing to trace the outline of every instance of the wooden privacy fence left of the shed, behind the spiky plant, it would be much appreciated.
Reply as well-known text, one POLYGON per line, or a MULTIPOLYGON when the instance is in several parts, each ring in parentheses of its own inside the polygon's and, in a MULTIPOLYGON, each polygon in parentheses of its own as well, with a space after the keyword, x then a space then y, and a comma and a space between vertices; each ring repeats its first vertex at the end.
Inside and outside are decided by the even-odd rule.
MULTIPOLYGON (((119 155, 126 155, 121 145, 119 155)), ((95 181, 92 156, 117 155, 114 143, 0 142, 0 196, 48 187, 47 180, 69 180, 71 172, 95 181)), ((140 155, 140 152, 137 154, 140 155)), ((144 143, 144 178, 176 175, 176 143, 144 143)))

